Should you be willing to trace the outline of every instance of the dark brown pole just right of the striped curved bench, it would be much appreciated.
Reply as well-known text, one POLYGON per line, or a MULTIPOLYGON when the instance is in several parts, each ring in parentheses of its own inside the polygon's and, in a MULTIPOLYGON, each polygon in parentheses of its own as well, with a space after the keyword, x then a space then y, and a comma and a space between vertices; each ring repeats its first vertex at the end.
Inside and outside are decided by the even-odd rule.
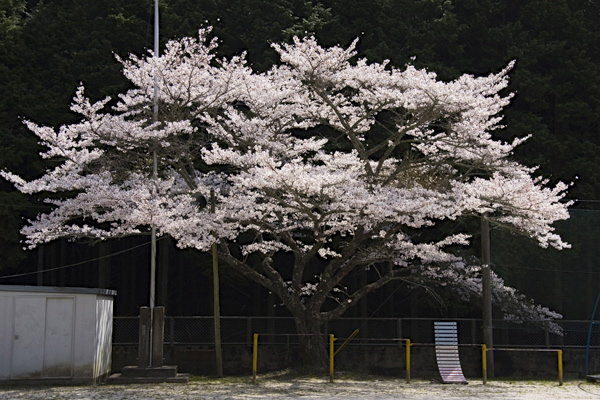
MULTIPOLYGON (((491 284, 491 251, 490 251, 490 223, 484 215, 481 218, 481 284, 483 296, 483 342, 488 349, 494 347, 494 333, 492 327, 492 284, 491 284)), ((490 350, 488 357, 489 366, 487 375, 494 377, 494 352, 490 350)))

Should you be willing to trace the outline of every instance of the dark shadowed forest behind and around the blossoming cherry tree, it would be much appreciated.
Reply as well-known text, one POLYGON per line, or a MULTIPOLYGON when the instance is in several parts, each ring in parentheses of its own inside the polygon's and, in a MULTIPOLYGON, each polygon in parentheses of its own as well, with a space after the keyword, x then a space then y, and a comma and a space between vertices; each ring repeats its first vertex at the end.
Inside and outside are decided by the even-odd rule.
MULTIPOLYGON (((598 258, 590 253, 598 238, 598 224, 590 225, 594 221, 590 216, 598 219, 593 210, 600 208, 599 20, 600 2, 594 0, 160 2, 163 44, 194 36, 198 28, 211 25, 223 55, 247 51, 259 71, 278 62, 270 43, 289 41, 294 35, 315 35, 324 45, 348 45, 359 37, 360 57, 389 59, 396 66, 411 62, 442 79, 496 72, 517 60, 509 86, 516 97, 506 111, 506 129, 498 135, 510 139, 531 134, 515 157, 539 166, 539 173, 550 182, 574 182, 569 194, 578 200, 574 211, 588 211, 575 220, 589 226, 568 228, 585 232, 573 236, 579 249, 575 253, 585 255, 575 261, 550 256, 572 272, 568 274, 571 286, 561 286, 567 274, 556 272, 558 267, 549 266, 551 262, 541 255, 529 260, 537 253, 526 244, 497 245, 497 270, 507 283, 542 303, 556 303, 553 306, 571 319, 589 317, 590 303, 600 289, 593 268, 598 258), (525 271, 515 260, 539 268, 525 271), (552 293, 536 286, 540 276, 549 279, 552 293), (585 283, 585 297, 579 283, 585 283), (555 301, 556 290, 564 292, 560 302, 555 301), (565 303, 563 298, 570 300, 565 303)), ((71 121, 69 104, 80 82, 93 99, 126 90, 128 82, 114 54, 139 55, 151 48, 152 23, 152 0, 0 0, 0 167, 29 178, 47 168, 22 119, 53 126, 71 121)), ((24 251, 19 228, 24 219, 40 211, 44 206, 38 199, 0 182, 0 276, 11 276, 0 278, 0 284, 116 288, 117 315, 136 315, 137 308, 147 304, 148 238, 100 244, 57 242, 24 251), (52 271, 36 274, 37 270, 52 271)), ((176 250, 168 238, 159 247, 158 304, 166 305, 171 315, 209 315, 210 258, 176 250)), ((478 251, 477 246, 473 251, 478 251)), ((348 284, 360 285, 365 279, 357 274, 348 284)), ((276 298, 242 281, 235 272, 224 270, 222 280, 225 315, 285 313, 276 298)), ((419 290, 390 285, 350 313, 478 315, 476 304, 464 304, 443 291, 442 295, 445 305, 419 290)))

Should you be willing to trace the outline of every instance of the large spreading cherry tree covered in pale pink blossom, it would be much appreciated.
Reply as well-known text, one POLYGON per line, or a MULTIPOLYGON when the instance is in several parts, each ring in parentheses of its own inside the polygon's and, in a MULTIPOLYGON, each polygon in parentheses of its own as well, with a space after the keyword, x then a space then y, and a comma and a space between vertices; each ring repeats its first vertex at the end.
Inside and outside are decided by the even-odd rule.
MULTIPOLYGON (((108 110, 110 99, 91 102, 82 87, 72 104, 81 121, 26 122, 42 157, 57 160, 32 181, 2 173, 24 193, 52 194, 52 211, 22 230, 30 247, 149 227, 181 248, 217 241, 224 262, 279 296, 315 364, 325 356, 320 325, 388 282, 477 291, 478 267, 453 251, 470 236, 445 234, 449 221, 484 216, 543 247, 568 247, 552 227, 568 218, 567 185, 511 160, 526 138, 493 136, 512 64, 442 82, 411 65, 357 60, 356 42, 324 48, 309 37, 274 45, 280 65, 255 73, 244 55, 215 57, 209 33, 171 41, 160 57, 120 60, 134 88, 108 110), (367 283, 348 290, 364 269, 367 283)), ((495 290, 513 293, 501 282, 495 290)))

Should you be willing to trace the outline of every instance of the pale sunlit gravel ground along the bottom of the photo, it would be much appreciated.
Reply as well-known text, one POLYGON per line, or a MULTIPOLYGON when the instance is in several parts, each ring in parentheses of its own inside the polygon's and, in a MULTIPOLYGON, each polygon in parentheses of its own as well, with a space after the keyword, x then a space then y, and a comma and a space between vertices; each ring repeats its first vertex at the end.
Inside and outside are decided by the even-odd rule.
POLYGON ((483 385, 444 385, 401 379, 320 378, 193 380, 188 384, 0 387, 0 399, 77 400, 226 400, 226 399, 600 399, 600 384, 569 381, 492 381, 483 385))

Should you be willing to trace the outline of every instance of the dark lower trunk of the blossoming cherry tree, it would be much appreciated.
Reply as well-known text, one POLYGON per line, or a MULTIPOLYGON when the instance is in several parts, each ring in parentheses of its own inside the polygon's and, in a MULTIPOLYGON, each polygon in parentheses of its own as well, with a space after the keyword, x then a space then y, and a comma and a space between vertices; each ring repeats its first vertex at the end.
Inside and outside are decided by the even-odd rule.
POLYGON ((323 321, 318 312, 295 314, 296 331, 300 342, 300 362, 310 372, 322 372, 327 369, 327 335, 321 332, 323 321))

